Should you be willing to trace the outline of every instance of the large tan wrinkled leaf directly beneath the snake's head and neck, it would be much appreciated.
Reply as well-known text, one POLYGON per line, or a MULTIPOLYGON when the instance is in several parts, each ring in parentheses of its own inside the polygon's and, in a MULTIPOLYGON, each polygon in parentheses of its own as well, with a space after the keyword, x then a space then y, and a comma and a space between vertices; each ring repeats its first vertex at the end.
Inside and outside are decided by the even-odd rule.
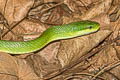
POLYGON ((110 33, 111 31, 109 30, 103 30, 95 34, 61 41, 57 55, 61 65, 64 67, 76 62, 81 56, 87 54, 103 41, 110 33))

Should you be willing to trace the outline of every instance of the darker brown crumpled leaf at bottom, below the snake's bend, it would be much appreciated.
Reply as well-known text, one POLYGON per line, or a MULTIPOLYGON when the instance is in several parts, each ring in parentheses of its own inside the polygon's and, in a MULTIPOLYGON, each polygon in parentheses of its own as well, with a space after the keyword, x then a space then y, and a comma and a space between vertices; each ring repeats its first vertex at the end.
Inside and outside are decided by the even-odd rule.
POLYGON ((30 64, 31 68, 33 68, 32 70, 34 70, 34 72, 40 78, 43 78, 45 75, 49 75, 52 71, 61 68, 61 65, 59 64, 58 60, 54 59, 53 61, 51 59, 50 61, 47 61, 48 59, 45 59, 43 56, 40 56, 38 54, 28 56, 26 60, 30 64))

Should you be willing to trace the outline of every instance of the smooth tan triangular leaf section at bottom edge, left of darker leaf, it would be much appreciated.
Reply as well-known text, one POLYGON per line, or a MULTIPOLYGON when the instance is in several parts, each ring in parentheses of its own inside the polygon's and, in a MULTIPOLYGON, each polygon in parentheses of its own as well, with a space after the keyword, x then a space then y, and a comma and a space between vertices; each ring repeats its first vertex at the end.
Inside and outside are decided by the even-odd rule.
POLYGON ((18 76, 21 80, 39 80, 40 78, 35 74, 34 70, 28 65, 24 59, 17 59, 18 76))

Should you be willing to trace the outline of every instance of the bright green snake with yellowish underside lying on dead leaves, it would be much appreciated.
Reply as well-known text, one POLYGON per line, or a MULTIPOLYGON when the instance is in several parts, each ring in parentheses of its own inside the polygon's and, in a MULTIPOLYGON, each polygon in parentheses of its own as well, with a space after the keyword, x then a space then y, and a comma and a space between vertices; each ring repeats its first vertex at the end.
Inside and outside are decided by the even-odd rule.
POLYGON ((0 51, 10 54, 25 54, 35 52, 48 43, 82 36, 98 31, 100 24, 94 21, 78 21, 60 26, 53 26, 45 30, 40 37, 30 41, 0 40, 0 51))

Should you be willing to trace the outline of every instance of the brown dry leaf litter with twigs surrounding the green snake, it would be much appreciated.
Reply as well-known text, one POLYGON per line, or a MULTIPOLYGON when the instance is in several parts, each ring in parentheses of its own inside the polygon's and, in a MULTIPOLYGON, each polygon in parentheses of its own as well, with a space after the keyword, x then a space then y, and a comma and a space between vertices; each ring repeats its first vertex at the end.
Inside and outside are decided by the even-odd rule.
POLYGON ((0 53, 1 80, 120 79, 119 0, 1 0, 2 40, 27 41, 48 27, 100 23, 94 34, 55 41, 24 55, 0 53))

